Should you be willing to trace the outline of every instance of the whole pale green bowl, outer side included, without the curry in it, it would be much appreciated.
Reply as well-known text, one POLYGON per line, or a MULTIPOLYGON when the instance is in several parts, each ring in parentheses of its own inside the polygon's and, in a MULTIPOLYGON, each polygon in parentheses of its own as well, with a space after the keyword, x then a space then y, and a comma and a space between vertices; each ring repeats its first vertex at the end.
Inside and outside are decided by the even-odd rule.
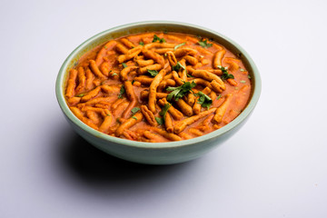
POLYGON ((233 40, 226 36, 196 25, 170 21, 147 21, 111 28, 98 35, 94 35, 86 40, 82 45, 79 45, 72 54, 69 54, 60 68, 55 84, 55 93, 68 123, 72 125, 77 134, 80 134, 90 144, 93 144, 105 153, 112 154, 127 161, 136 163, 169 164, 183 163, 200 157, 211 151, 217 145, 223 144, 223 142, 235 134, 243 124, 245 124, 250 114, 253 113, 253 109, 255 104, 258 102, 261 93, 261 79, 250 55, 247 54, 240 45, 237 45, 233 40), (237 54, 248 69, 253 83, 251 100, 243 110, 243 113, 237 116, 233 122, 223 126, 223 128, 216 130, 213 133, 180 142, 155 144, 134 142, 103 134, 77 119, 64 100, 64 83, 69 69, 74 66, 74 64, 77 64, 78 59, 85 52, 93 49, 97 45, 101 45, 108 40, 123 35, 148 31, 167 31, 202 35, 203 37, 212 38, 215 42, 224 45, 227 49, 232 51, 233 54, 237 54))

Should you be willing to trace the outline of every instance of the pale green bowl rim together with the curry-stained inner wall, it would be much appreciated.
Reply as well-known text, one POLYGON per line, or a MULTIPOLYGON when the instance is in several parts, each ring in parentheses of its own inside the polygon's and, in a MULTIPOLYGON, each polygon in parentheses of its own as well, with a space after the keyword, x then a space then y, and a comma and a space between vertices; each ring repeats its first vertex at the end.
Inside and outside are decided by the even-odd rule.
POLYGON ((255 104, 257 103, 260 93, 261 93, 261 78, 253 63, 252 58, 249 54, 247 54, 240 45, 237 45, 233 40, 228 37, 221 35, 219 33, 214 32, 213 30, 206 29, 201 26, 177 23, 177 22, 167 22, 167 21, 150 21, 150 22, 140 22, 128 25, 121 25, 114 27, 112 29, 106 30, 98 35, 94 35, 90 39, 86 40, 82 45, 79 45, 72 54, 64 61, 59 74, 56 80, 56 96, 58 103, 60 104, 61 109, 64 114, 68 117, 70 121, 74 124, 78 125, 84 131, 89 134, 94 134, 96 137, 103 138, 109 142, 113 142, 116 144, 124 144, 136 147, 152 147, 152 148, 166 148, 166 147, 176 147, 176 146, 185 146, 187 144, 197 144, 205 140, 213 139, 218 137, 221 134, 226 134, 230 130, 232 130, 235 126, 242 123, 246 117, 252 113, 255 104), (243 112, 239 114, 230 124, 223 126, 223 128, 213 131, 210 134, 204 134, 203 136, 199 136, 189 140, 183 140, 179 142, 169 142, 169 143, 144 143, 144 142, 134 142, 130 140, 125 140, 121 138, 117 138, 114 136, 110 136, 108 134, 103 134, 99 131, 94 130, 88 125, 84 124, 78 118, 74 116, 74 114, 70 111, 68 105, 64 99, 64 84, 68 76, 69 70, 76 64, 78 64, 78 60, 84 55, 86 52, 92 50, 96 46, 102 45, 105 42, 121 37, 124 35, 132 35, 137 33, 144 32, 154 32, 154 31, 163 31, 163 32, 176 32, 176 33, 184 33, 191 35, 201 35, 203 37, 212 39, 225 46, 229 49, 233 54, 236 54, 245 65, 246 69, 248 69, 249 74, 251 75, 252 80, 252 92, 250 96, 250 101, 244 108, 243 112))

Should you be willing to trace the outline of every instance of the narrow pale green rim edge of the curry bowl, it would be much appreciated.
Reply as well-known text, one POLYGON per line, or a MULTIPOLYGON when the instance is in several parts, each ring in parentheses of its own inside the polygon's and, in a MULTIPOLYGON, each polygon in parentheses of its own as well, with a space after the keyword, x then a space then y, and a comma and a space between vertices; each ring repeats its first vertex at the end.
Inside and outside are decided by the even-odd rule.
MULTIPOLYGON (((253 80, 252 80, 253 81, 253 80)), ((109 144, 123 144, 125 146, 132 146, 132 147, 138 147, 138 148, 153 148, 153 149, 164 149, 164 148, 174 148, 174 147, 181 147, 181 146, 187 146, 191 144, 199 144, 201 142, 212 140, 220 135, 226 134, 233 130, 234 127, 236 127, 238 124, 243 123, 243 121, 253 112, 253 109, 255 105, 257 104, 260 94, 261 94, 262 84, 261 84, 261 76, 259 74, 259 71, 256 67, 256 65, 253 62, 253 59, 250 57, 250 55, 237 43, 235 43, 232 39, 229 37, 222 35, 220 33, 217 33, 211 29, 208 29, 203 26, 199 25, 193 25, 188 23, 182 23, 182 22, 175 22, 175 21, 143 21, 143 22, 135 22, 125 25, 117 25, 113 28, 104 30, 103 32, 94 35, 90 37, 89 39, 85 40, 84 43, 81 45, 78 45, 74 51, 67 56, 67 58, 64 60, 64 64, 62 64, 59 73, 56 78, 55 82, 55 94, 58 101, 58 104, 60 105, 63 113, 66 115, 66 117, 76 124, 78 127, 83 129, 88 134, 92 134, 97 138, 101 138, 104 141, 107 141, 109 144), (231 123, 224 125, 221 129, 217 129, 209 134, 204 134, 202 136, 198 136, 192 139, 188 140, 182 140, 182 141, 176 141, 176 142, 167 142, 167 143, 146 143, 146 142, 138 142, 138 141, 132 141, 128 139, 122 139, 118 137, 111 136, 109 134, 103 134, 100 131, 94 130, 90 126, 84 124, 81 120, 79 120, 73 112, 69 109, 68 105, 65 102, 64 98, 64 82, 65 82, 65 76, 67 72, 67 68, 69 64, 74 59, 74 56, 78 54, 81 50, 84 49, 85 46, 90 45, 94 42, 96 42, 98 39, 102 38, 104 35, 107 35, 111 32, 119 31, 120 29, 125 29, 127 27, 137 27, 138 25, 180 25, 181 27, 190 27, 195 28, 200 31, 207 31, 210 34, 217 35, 220 38, 223 38, 223 40, 229 42, 231 45, 235 46, 244 56, 244 58, 248 61, 249 65, 252 67, 252 73, 254 76, 254 88, 253 88, 253 94, 252 98, 250 99, 250 102, 247 104, 247 106, 244 108, 243 112, 239 114, 231 123)))

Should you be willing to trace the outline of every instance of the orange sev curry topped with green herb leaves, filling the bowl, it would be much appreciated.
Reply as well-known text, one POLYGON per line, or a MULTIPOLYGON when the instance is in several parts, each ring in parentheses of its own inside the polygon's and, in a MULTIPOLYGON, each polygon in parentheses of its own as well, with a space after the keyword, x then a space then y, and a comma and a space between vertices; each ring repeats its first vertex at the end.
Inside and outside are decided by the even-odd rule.
POLYGON ((222 128, 250 93, 243 62, 223 45, 161 32, 126 35, 84 54, 65 86, 67 104, 84 124, 148 143, 222 128))

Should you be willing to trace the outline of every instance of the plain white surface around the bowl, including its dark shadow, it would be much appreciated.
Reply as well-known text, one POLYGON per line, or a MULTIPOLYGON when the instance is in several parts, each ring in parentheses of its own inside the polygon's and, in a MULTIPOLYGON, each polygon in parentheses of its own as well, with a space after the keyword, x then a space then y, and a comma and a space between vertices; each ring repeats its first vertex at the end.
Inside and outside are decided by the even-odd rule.
POLYGON ((0 217, 327 217, 326 1, 111 2, 2 1, 0 217), (249 122, 196 161, 114 159, 56 103, 77 45, 144 20, 227 35, 262 74, 249 122))

